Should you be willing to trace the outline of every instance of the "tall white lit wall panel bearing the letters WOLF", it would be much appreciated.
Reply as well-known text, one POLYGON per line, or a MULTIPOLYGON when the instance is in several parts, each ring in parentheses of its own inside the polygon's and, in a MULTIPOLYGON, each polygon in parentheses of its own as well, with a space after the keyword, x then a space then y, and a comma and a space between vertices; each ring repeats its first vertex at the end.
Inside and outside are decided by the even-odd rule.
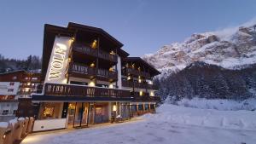
POLYGON ((68 67, 68 55, 71 43, 71 37, 55 37, 44 84, 67 84, 65 75, 68 67))

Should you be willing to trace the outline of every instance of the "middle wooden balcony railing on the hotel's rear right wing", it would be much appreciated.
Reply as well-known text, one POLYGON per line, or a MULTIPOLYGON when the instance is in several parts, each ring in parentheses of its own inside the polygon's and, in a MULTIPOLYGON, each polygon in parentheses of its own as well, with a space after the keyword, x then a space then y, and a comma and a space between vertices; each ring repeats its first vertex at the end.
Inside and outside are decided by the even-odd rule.
POLYGON ((154 84, 143 84, 143 83, 136 83, 136 82, 125 81, 125 80, 122 80, 122 85, 124 87, 130 87, 130 88, 133 88, 133 85, 134 85, 134 88, 138 88, 138 89, 158 89, 154 84))

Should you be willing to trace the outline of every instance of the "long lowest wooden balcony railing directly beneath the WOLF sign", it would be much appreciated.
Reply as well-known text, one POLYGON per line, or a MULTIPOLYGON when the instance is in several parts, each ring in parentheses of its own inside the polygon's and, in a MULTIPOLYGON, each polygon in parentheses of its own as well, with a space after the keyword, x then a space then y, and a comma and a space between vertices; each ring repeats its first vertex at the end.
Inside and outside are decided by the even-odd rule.
POLYGON ((44 95, 88 96, 88 97, 131 97, 130 90, 107 89, 84 85, 45 84, 44 95))

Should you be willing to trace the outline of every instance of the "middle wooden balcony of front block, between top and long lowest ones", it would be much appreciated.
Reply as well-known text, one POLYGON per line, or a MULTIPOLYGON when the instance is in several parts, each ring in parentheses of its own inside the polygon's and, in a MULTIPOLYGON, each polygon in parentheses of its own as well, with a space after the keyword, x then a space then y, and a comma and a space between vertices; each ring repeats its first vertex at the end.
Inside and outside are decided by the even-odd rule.
POLYGON ((110 72, 105 69, 98 69, 95 67, 85 66, 77 63, 70 63, 68 73, 73 77, 79 78, 99 78, 101 80, 117 81, 118 72, 110 72))

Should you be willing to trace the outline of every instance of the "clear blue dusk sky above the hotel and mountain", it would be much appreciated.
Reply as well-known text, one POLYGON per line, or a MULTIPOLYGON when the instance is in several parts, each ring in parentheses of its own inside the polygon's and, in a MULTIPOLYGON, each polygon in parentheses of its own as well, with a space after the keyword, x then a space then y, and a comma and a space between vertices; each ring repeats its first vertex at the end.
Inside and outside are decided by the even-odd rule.
POLYGON ((241 25, 256 17, 255 0, 0 0, 0 54, 42 56, 44 24, 96 26, 131 56, 154 53, 195 32, 241 25))

